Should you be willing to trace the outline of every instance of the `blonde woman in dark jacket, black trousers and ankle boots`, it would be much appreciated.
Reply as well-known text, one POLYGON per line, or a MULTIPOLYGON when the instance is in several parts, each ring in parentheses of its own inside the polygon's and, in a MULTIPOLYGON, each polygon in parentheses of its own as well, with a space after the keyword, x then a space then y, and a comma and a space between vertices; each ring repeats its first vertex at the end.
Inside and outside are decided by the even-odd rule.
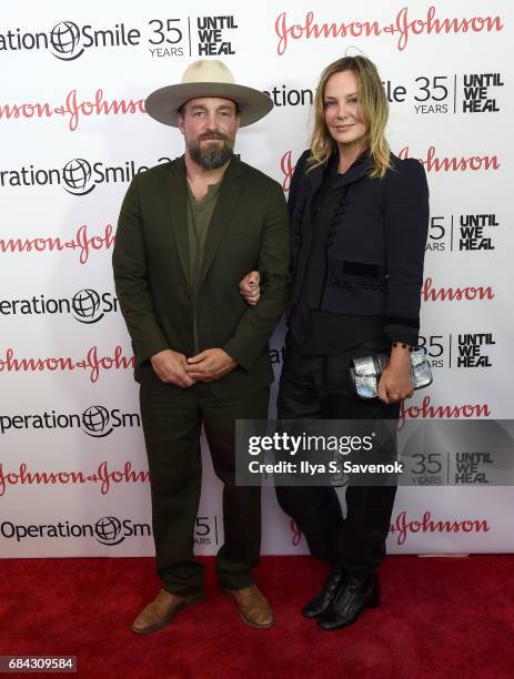
MULTIPOLYGON (((281 419, 393 419, 412 395, 429 226, 423 166, 400 160, 385 139, 387 100, 375 65, 345 57, 325 68, 311 146, 291 182, 292 297, 278 414, 281 419), (353 358, 387 353, 377 397, 361 399, 353 358)), ((250 291, 249 291, 250 292, 250 291)), ((249 302, 255 302, 255 286, 249 302)), ((343 518, 330 486, 278 487, 278 499, 330 564, 303 608, 323 629, 354 622, 379 604, 376 568, 394 486, 346 489, 343 518)))

